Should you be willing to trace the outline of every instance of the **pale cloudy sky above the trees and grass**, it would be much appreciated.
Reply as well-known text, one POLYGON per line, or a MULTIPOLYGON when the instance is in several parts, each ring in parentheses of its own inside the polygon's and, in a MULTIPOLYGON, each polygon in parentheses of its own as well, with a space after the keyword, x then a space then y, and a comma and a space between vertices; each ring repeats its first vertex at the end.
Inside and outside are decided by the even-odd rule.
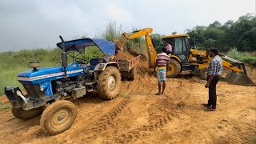
POLYGON ((255 14, 256 0, 1 0, 0 52, 49 49, 64 40, 99 38, 110 22, 123 31, 152 27, 180 34, 255 14))

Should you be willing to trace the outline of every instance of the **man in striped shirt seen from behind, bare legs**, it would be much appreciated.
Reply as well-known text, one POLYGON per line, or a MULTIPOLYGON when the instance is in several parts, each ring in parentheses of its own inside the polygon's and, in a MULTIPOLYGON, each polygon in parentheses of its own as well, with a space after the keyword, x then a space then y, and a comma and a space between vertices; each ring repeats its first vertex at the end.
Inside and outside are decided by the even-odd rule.
POLYGON ((163 94, 166 88, 166 65, 168 62, 170 62, 169 56, 166 54, 166 48, 163 47, 162 53, 158 54, 157 58, 157 77, 158 77, 158 93, 157 95, 163 94), (161 87, 162 87, 162 92, 161 92, 161 87))

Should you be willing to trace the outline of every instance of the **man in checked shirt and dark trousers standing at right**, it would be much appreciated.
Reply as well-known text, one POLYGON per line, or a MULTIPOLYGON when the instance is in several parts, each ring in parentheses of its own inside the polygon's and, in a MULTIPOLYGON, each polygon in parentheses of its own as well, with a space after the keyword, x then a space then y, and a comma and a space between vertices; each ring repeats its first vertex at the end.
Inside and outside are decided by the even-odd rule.
POLYGON ((207 83, 206 88, 209 88, 209 100, 208 104, 203 104, 207 107, 206 111, 216 110, 216 85, 220 76, 222 75, 222 58, 218 57, 218 49, 210 49, 210 57, 213 58, 210 61, 210 65, 207 68, 207 83))

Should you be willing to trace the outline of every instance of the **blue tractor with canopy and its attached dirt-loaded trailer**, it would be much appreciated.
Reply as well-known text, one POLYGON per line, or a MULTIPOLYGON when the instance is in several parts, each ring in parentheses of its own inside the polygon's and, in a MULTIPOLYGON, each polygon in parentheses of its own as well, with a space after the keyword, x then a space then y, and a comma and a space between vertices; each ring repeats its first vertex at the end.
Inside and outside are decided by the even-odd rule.
POLYGON ((130 61, 114 58, 115 44, 101 38, 68 42, 62 39, 57 46, 62 49, 62 66, 38 69, 39 62, 30 62, 33 70, 18 74, 18 82, 27 94, 17 86, 5 87, 14 117, 27 120, 42 114, 40 125, 48 134, 61 133, 73 124, 77 110, 74 103, 66 99, 80 98, 93 91, 104 99, 117 97, 121 78, 135 78, 136 63, 139 62, 139 57, 130 61), (97 46, 104 57, 92 58, 87 63, 81 55, 88 46, 97 46), (67 54, 73 58, 69 65, 67 54))

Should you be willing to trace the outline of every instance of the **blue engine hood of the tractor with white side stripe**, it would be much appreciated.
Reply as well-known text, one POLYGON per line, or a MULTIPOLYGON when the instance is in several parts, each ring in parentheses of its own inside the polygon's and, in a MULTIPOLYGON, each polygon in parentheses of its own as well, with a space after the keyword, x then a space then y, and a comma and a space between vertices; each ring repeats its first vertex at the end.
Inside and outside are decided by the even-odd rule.
MULTIPOLYGON (((83 68, 76 64, 66 66, 66 74, 73 77, 83 73, 83 68)), ((18 82, 37 84, 40 82, 50 82, 64 77, 62 66, 47 67, 38 70, 28 70, 18 74, 18 82)))

